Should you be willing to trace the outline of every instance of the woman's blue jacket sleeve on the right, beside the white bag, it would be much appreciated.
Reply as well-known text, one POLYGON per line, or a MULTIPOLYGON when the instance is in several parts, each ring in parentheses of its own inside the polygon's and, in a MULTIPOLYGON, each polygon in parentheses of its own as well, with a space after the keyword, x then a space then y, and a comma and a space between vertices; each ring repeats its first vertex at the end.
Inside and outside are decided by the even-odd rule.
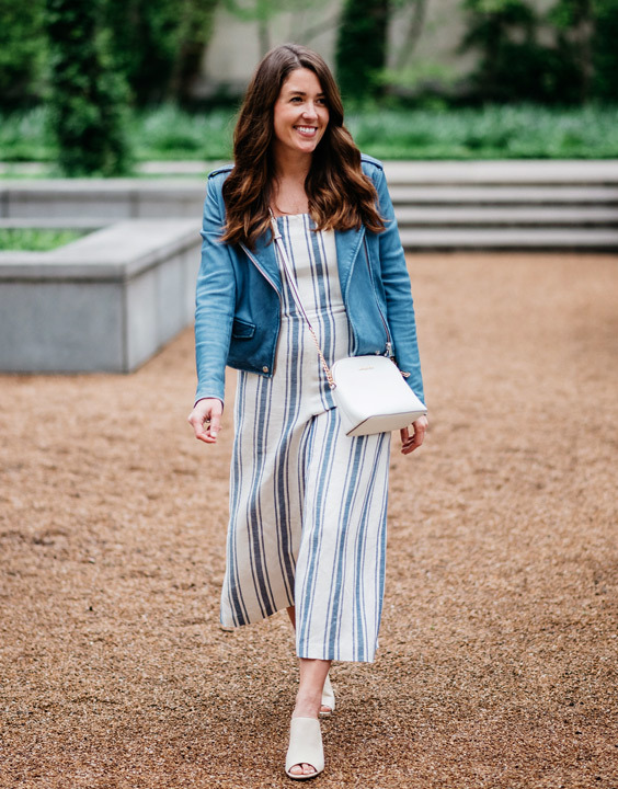
POLYGON ((379 233, 378 239, 380 272, 387 301, 387 322, 392 336, 394 357, 399 368, 410 374, 407 380, 412 391, 425 402, 410 276, 392 201, 381 168, 377 169, 374 183, 378 192, 380 215, 386 221, 386 230, 379 233))

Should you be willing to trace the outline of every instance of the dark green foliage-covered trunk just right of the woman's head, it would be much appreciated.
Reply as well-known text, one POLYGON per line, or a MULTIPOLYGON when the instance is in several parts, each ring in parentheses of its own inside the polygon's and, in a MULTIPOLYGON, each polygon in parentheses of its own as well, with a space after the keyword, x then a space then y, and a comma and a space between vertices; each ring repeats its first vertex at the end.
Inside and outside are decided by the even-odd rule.
POLYGON ((388 19, 388 0, 345 0, 335 52, 337 80, 345 98, 359 100, 381 92, 388 19))

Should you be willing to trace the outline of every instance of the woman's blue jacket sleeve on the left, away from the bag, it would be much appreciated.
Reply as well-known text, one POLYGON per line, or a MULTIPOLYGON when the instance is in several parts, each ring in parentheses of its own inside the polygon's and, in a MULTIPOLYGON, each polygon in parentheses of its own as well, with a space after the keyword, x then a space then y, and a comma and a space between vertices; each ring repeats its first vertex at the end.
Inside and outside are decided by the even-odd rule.
POLYGON ((225 370, 236 305, 236 278, 230 249, 219 240, 225 224, 221 183, 220 178, 208 179, 204 203, 202 263, 195 293, 195 402, 207 397, 218 398, 224 402, 225 397, 225 370))

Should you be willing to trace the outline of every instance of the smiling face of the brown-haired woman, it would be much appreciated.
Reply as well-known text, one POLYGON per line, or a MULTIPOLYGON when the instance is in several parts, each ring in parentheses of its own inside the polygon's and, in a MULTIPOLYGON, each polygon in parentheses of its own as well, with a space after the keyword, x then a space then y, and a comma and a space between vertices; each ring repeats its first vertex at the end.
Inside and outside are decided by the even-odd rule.
POLYGON ((329 125, 327 100, 313 71, 291 71, 275 102, 273 121, 275 157, 313 153, 329 125))

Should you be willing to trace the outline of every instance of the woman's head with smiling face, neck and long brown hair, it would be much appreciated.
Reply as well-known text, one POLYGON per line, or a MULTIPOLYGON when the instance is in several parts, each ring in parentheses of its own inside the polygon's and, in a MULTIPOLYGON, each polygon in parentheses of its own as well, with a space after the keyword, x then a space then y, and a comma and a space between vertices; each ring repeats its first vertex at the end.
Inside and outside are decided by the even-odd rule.
POLYGON ((317 53, 284 45, 266 55, 248 88, 233 145, 234 168, 222 185, 224 241, 252 249, 270 231, 273 197, 281 201, 282 192, 300 201, 322 230, 384 230, 376 190, 343 125, 336 82, 317 53))

